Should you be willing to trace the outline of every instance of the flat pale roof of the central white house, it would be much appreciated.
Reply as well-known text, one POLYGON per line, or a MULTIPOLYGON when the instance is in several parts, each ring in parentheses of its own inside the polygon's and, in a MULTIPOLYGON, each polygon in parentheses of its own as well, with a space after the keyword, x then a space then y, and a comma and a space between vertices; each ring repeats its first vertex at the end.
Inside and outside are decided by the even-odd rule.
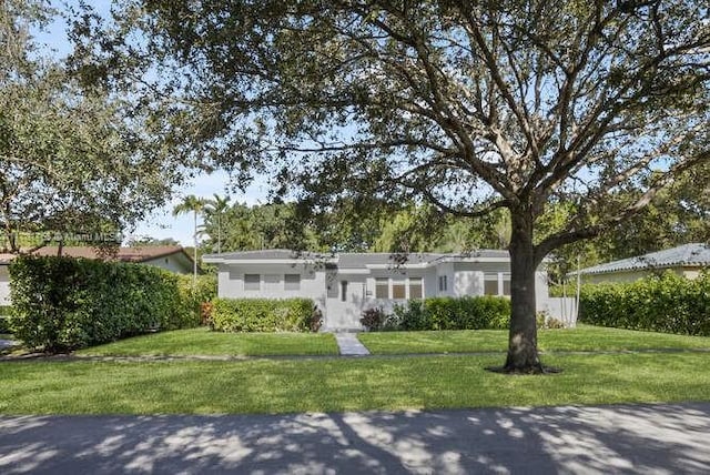
POLYGON ((477 262, 477 261, 508 261, 508 251, 479 250, 466 254, 439 253, 376 253, 376 252, 345 252, 339 254, 317 254, 311 252, 295 252, 283 249, 265 251, 226 252, 222 254, 205 254, 203 262, 219 263, 266 263, 266 262, 300 262, 322 261, 336 264, 341 269, 376 269, 383 266, 429 266, 439 262, 477 262))

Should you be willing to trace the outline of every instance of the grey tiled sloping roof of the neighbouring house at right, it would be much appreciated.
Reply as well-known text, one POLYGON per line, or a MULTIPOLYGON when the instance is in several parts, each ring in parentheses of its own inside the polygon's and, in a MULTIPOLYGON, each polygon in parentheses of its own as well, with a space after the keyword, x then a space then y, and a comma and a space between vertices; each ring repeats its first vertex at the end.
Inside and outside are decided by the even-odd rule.
POLYGON ((606 274, 609 272, 642 269, 702 267, 707 265, 710 265, 710 244, 691 243, 636 257, 595 265, 582 269, 579 273, 606 274))

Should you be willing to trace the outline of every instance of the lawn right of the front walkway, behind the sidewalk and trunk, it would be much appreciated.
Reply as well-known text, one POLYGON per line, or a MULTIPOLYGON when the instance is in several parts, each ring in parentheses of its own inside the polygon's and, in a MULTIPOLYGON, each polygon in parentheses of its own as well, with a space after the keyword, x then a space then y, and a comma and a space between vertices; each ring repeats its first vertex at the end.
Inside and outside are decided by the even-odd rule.
MULTIPOLYGON (((508 332, 466 330, 439 332, 361 333, 374 354, 505 352, 508 332)), ((541 351, 710 350, 710 337, 635 332, 580 325, 538 332, 541 351)))

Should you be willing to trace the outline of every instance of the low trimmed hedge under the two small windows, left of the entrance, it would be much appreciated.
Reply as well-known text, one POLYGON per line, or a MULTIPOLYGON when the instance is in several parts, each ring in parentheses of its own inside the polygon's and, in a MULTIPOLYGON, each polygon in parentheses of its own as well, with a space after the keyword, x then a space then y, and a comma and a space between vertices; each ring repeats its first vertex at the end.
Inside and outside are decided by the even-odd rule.
MULTIPOLYGON (((311 332, 320 312, 311 299, 215 299, 212 330, 219 332, 311 332)), ((314 330, 315 329, 315 330, 314 330)))

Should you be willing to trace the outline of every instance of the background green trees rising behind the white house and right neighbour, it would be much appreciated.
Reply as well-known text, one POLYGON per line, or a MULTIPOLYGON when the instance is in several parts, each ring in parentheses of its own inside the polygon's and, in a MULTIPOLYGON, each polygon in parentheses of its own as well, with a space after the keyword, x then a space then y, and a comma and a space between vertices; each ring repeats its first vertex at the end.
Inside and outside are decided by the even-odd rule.
MULTIPOLYGON (((567 245, 551 255, 554 279, 580 265, 641 255, 689 242, 710 242, 710 165, 686 173, 622 226, 597 239, 567 245)), ((191 200, 194 200, 191 199, 191 200)), ((185 200, 184 204, 191 202, 185 200)), ((540 220, 541 232, 566 225, 570 204, 556 203, 540 220)), ((248 206, 214 196, 202 200, 199 230, 202 253, 295 249, 313 252, 453 252, 507 249, 510 216, 506 210, 477 218, 452 216, 427 204, 362 212, 314 214, 298 203, 248 206)))

